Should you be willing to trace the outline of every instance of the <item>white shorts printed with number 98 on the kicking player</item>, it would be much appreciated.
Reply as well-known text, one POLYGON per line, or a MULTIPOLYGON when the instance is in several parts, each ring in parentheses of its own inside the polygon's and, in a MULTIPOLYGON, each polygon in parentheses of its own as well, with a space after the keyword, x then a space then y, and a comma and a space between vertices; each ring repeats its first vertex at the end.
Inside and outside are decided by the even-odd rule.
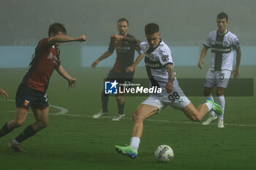
POLYGON ((187 107, 190 103, 189 98, 184 95, 183 91, 178 85, 178 81, 173 82, 173 90, 167 93, 165 90, 161 94, 151 94, 141 104, 148 104, 157 107, 159 111, 167 106, 174 109, 182 109, 187 107))

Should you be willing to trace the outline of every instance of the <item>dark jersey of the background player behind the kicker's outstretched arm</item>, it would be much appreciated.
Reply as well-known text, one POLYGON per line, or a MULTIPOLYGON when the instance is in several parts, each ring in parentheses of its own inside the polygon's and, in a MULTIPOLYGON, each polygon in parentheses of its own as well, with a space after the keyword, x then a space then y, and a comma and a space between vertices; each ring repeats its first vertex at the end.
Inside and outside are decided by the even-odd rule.
MULTIPOLYGON (((127 34, 127 37, 134 37, 131 34, 127 34)), ((116 49, 116 63, 113 66, 113 70, 118 73, 124 73, 125 69, 132 65, 134 58, 135 58, 135 50, 138 51, 138 53, 143 53, 140 51, 139 48, 135 47, 135 45, 121 41, 120 45, 118 47, 115 47, 113 45, 113 42, 110 41, 108 51, 110 53, 113 53, 113 51, 116 49)))

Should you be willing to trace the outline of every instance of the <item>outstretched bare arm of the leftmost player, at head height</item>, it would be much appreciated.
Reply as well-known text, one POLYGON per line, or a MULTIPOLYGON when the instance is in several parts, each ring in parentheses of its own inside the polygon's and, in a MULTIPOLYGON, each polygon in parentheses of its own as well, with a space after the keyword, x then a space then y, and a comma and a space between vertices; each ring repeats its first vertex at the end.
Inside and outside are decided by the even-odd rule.
POLYGON ((56 42, 86 42, 86 36, 80 35, 78 37, 71 37, 64 34, 50 36, 48 39, 49 45, 54 45, 56 42))

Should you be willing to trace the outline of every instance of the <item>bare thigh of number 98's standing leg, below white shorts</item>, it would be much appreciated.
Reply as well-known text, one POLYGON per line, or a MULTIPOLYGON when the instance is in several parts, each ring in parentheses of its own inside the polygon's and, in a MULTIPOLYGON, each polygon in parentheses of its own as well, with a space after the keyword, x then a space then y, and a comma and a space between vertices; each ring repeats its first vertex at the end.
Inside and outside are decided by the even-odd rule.
POLYGON ((148 104, 140 104, 133 115, 134 121, 143 121, 147 117, 151 117, 151 115, 157 114, 158 108, 148 105, 148 104))

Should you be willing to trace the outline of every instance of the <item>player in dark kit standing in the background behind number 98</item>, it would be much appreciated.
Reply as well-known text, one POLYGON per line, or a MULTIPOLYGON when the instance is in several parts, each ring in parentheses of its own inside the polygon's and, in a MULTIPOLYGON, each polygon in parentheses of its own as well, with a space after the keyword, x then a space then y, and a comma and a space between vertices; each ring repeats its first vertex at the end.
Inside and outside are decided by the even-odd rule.
MULTIPOLYGON (((127 19, 125 18, 119 19, 117 22, 117 29, 118 29, 119 35, 133 37, 131 34, 128 34, 129 22, 127 19)), ((91 63, 91 67, 92 68, 96 67, 99 61, 102 61, 105 58, 108 58, 110 55, 113 54, 114 50, 115 50, 115 46, 113 45, 113 42, 110 42, 108 51, 102 54, 96 61, 91 63)), ((140 63, 143 56, 144 56, 143 51, 141 51, 138 47, 135 47, 135 45, 124 42, 124 41, 121 42, 121 44, 119 44, 118 47, 116 47, 116 63, 114 64, 113 69, 111 69, 110 72, 108 73, 108 77, 106 80, 118 79, 119 83, 132 82, 135 66, 138 63, 140 63), (139 55, 138 55, 138 58, 135 60, 135 62, 133 62, 135 57, 135 50, 138 51, 139 55)), ((102 91, 101 96, 102 96, 102 110, 100 112, 97 112, 95 115, 93 115, 94 119, 97 119, 102 115, 108 114, 108 95, 104 94, 104 91, 102 91)), ((124 117, 123 96, 121 94, 117 94, 116 101, 118 104, 118 114, 115 117, 113 117, 112 120, 119 121, 124 117)))

